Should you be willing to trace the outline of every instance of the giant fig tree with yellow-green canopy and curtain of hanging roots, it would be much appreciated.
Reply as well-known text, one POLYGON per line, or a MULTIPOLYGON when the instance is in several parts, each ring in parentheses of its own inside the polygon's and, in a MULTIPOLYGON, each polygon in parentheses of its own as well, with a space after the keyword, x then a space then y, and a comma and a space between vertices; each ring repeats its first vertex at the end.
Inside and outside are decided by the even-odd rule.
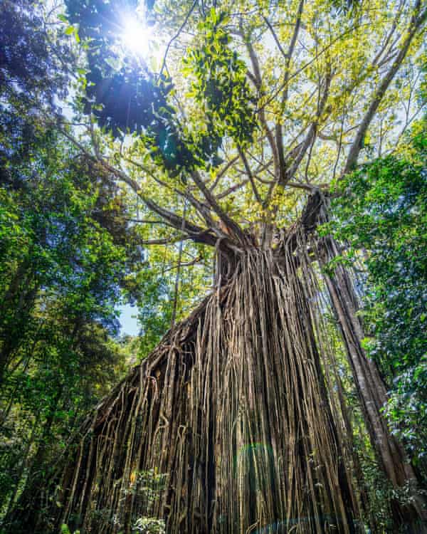
MULTIPOLYGON (((120 17, 136 2, 67 6, 86 49, 76 112, 92 144, 64 120, 60 131, 162 221, 147 223, 147 245, 213 249, 215 288, 90 415, 56 520, 131 532, 151 513, 170 533, 354 532, 361 498, 326 387, 317 273, 335 252, 315 229, 331 179, 396 142, 393 105, 411 121, 427 7, 157 3, 147 17, 173 37, 156 69, 122 46, 120 17), (149 470, 164 480, 147 504, 149 470)), ((349 277, 328 288, 380 465, 394 486, 413 482, 381 418, 349 277)), ((422 532, 423 506, 395 503, 396 529, 422 532)), ((28 507, 23 523, 43 529, 36 515, 28 507)))

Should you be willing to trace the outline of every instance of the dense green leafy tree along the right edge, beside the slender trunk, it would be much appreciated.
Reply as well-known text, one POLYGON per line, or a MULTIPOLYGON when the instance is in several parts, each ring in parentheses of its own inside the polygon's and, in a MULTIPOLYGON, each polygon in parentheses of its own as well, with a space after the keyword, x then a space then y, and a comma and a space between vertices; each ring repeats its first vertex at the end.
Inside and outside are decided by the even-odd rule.
POLYGON ((426 119, 416 122, 399 156, 377 159, 339 184, 332 223, 349 248, 343 261, 362 261, 369 278, 366 345, 391 389, 386 407, 394 434, 423 463, 426 335, 426 119), (348 189, 347 189, 348 188, 348 189))

